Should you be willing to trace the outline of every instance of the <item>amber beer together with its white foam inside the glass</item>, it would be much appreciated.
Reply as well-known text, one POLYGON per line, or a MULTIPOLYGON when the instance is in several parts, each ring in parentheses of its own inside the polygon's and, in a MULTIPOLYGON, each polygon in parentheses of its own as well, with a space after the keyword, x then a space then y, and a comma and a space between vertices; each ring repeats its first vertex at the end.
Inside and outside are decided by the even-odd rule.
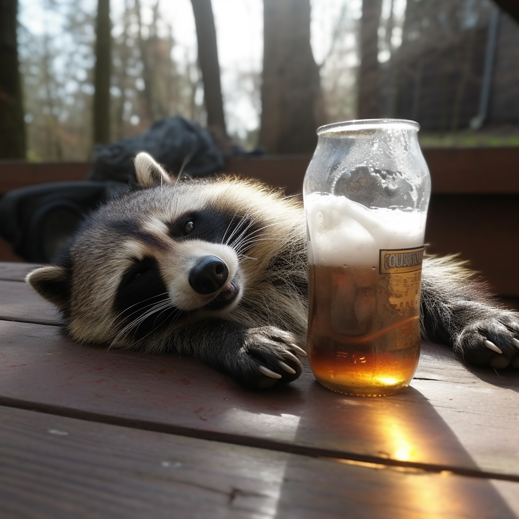
POLYGON ((313 374, 329 389, 357 395, 406 386, 419 356, 421 255, 409 255, 419 265, 382 272, 380 251, 419 247, 425 216, 319 193, 305 206, 313 374))

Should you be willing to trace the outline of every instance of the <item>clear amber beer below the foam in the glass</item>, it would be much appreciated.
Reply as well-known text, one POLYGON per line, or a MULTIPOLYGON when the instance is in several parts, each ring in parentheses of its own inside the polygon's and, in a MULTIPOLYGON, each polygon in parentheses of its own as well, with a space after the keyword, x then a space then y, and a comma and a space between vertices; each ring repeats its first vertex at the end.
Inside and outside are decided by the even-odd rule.
POLYGON ((420 352, 423 253, 381 250, 373 266, 309 265, 307 347, 320 384, 372 397, 409 384, 420 352))

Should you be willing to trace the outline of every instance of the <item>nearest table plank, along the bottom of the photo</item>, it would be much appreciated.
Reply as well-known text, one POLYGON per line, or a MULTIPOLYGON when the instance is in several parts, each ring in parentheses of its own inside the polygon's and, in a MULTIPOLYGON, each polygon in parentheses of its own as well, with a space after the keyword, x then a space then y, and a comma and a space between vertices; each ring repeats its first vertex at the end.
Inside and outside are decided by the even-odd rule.
POLYGON ((514 517, 519 484, 0 408, 3 517, 514 517), (343 460, 344 461, 344 460, 343 460))

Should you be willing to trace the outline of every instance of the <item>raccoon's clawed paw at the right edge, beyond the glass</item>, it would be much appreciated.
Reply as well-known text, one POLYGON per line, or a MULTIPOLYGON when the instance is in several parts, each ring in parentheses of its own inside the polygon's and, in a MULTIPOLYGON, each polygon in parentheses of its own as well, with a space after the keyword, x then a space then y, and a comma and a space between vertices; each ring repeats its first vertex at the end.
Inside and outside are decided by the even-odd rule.
POLYGON ((519 368, 519 313, 493 310, 461 331, 455 349, 476 366, 519 368))

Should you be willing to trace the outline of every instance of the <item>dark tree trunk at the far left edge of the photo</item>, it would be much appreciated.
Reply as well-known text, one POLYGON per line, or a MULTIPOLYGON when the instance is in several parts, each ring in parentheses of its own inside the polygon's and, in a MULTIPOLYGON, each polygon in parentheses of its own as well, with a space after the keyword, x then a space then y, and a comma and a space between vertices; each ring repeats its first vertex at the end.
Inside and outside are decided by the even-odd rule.
POLYGON ((0 159, 25 158, 25 123, 18 70, 18 2, 0 2, 0 159))

